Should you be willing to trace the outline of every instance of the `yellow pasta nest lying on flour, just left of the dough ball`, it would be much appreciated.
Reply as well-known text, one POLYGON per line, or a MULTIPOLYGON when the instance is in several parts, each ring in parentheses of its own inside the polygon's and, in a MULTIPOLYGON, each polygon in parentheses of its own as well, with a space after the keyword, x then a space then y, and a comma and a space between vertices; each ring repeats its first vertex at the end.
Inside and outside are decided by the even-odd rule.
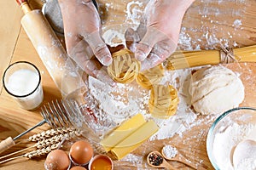
POLYGON ((149 113, 152 116, 167 119, 177 111, 177 90, 172 85, 153 85, 148 101, 149 113))

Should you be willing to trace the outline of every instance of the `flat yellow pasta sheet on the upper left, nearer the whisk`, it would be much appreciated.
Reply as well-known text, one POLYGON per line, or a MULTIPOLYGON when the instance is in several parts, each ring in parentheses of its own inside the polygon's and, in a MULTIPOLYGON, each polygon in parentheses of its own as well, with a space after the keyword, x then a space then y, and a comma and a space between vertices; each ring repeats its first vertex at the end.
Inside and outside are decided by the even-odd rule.
POLYGON ((108 152, 113 149, 116 144, 119 144, 122 140, 127 138, 131 133, 134 133, 139 127, 145 123, 145 119, 142 114, 137 114, 131 117, 128 121, 122 123, 121 126, 113 130, 107 138, 102 139, 101 144, 103 148, 108 152))

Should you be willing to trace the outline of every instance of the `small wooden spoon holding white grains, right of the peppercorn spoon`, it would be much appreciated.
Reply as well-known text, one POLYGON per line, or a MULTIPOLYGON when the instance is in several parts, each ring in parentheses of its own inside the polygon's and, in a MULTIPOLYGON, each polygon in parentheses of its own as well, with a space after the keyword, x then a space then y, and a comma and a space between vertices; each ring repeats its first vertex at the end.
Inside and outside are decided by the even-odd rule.
POLYGON ((189 167, 192 167, 192 168, 194 168, 194 169, 197 169, 197 167, 195 167, 195 164, 194 163, 192 163, 191 161, 189 161, 187 158, 185 158, 178 150, 177 150, 177 148, 175 147, 175 146, 172 146, 172 145, 170 145, 170 144, 168 144, 168 145, 166 145, 166 146, 164 146, 163 148, 162 148, 162 150, 161 150, 161 152, 162 152, 162 155, 164 156, 164 158, 166 159, 166 160, 169 160, 169 161, 178 161, 178 162, 181 162, 181 163, 183 163, 184 165, 186 165, 186 166, 189 166, 189 167), (170 147, 171 146, 171 150, 172 150, 172 157, 170 157, 170 156, 166 156, 166 154, 165 154, 165 147, 170 147))

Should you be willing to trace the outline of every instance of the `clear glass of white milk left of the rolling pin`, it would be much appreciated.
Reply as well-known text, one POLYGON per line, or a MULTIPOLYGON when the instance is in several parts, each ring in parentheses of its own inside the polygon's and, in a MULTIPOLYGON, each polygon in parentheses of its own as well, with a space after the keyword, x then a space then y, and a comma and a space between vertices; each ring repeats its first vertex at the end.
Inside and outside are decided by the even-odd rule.
POLYGON ((44 99, 41 75, 32 63, 18 61, 4 71, 3 87, 25 110, 34 110, 44 99))

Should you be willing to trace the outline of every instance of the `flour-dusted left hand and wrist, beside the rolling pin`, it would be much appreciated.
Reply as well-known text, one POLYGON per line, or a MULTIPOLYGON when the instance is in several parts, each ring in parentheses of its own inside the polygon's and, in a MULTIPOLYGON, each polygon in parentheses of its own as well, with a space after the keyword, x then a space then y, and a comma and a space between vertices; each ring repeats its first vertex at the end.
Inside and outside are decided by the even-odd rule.
POLYGON ((108 79, 104 66, 112 63, 112 57, 100 36, 101 20, 96 6, 91 0, 59 0, 59 4, 67 54, 90 76, 108 79))

